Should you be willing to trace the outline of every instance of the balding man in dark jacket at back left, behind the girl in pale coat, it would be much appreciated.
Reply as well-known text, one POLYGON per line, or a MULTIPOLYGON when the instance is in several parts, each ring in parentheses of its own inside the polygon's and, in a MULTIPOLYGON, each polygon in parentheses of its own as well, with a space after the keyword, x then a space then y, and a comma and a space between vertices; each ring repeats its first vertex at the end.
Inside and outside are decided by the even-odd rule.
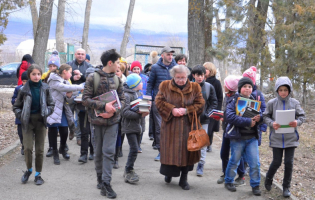
MULTIPOLYGON (((73 61, 67 62, 68 65, 72 67, 72 77, 70 78, 72 84, 81 84, 85 82, 85 72, 87 68, 92 67, 92 65, 85 61, 86 54, 85 50, 82 48, 79 48, 76 50, 74 54, 75 59, 73 61)), ((74 112, 75 104, 70 105, 71 109, 74 112)), ((81 146, 81 131, 80 131, 80 125, 78 120, 78 113, 79 111, 76 111, 74 113, 74 120, 75 120, 75 134, 77 137, 77 144, 81 146)), ((74 133, 70 133, 69 138, 73 138, 74 133)))

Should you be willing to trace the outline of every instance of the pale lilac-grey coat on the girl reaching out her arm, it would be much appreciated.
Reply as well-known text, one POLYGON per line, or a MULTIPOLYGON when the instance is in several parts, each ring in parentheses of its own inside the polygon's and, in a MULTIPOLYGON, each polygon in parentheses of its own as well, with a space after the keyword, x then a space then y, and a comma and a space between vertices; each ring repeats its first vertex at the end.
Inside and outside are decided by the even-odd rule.
POLYGON ((47 117, 48 124, 61 123, 62 112, 65 109, 69 127, 73 126, 73 114, 68 103, 72 103, 74 95, 71 98, 66 96, 66 92, 76 92, 84 89, 83 85, 70 85, 56 73, 51 73, 47 81, 50 87, 51 95, 55 102, 54 112, 47 117))

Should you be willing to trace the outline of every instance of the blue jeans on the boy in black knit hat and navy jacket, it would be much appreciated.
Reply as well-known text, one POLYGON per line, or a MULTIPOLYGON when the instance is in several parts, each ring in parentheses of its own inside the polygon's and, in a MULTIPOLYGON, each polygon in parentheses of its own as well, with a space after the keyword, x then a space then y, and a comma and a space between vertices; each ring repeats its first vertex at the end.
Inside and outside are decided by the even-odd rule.
POLYGON ((248 140, 230 140, 231 158, 225 172, 225 183, 233 183, 237 166, 240 164, 242 156, 246 157, 250 171, 250 186, 257 187, 260 184, 260 162, 258 140, 253 137, 248 140))

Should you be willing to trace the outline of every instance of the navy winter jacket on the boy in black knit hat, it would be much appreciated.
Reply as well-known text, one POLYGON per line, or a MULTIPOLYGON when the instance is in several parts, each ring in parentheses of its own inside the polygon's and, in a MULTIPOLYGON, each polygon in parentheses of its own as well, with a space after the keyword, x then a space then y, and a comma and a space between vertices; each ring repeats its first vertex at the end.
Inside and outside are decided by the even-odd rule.
MULTIPOLYGON (((231 134, 225 134, 225 137, 227 138, 241 139, 242 131, 245 131, 244 127, 250 127, 252 124, 251 118, 241 117, 241 116, 236 115, 236 102, 237 102, 238 97, 240 97, 240 95, 236 93, 233 97, 233 100, 230 101, 230 103, 227 105, 225 116, 224 116, 226 122, 228 123, 226 132, 228 133, 231 130, 233 130, 231 134, 236 135, 237 137, 231 137, 231 134)), ((254 97, 251 95, 250 99, 254 99, 254 97)), ((263 119, 261 117, 259 123, 262 123, 262 121, 263 119)), ((254 130, 255 132, 254 135, 256 139, 259 139, 258 125, 259 124, 256 123, 256 125, 251 128, 251 130, 254 130)))

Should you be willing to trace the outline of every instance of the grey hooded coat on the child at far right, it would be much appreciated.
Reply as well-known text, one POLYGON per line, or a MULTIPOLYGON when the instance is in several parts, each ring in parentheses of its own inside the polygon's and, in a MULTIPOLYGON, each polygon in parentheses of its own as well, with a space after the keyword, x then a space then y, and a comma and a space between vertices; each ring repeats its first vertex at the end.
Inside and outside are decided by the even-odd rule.
POLYGON ((300 126, 305 121, 305 112, 301 108, 300 102, 291 97, 292 93, 292 83, 288 77, 280 77, 276 81, 275 91, 276 98, 271 99, 266 106, 266 110, 263 113, 264 123, 270 127, 270 147, 276 148, 288 148, 288 147, 297 147, 299 145, 299 134, 297 128, 295 128, 294 133, 275 133, 272 125, 275 122, 276 110, 290 110, 295 109, 295 119, 297 125, 300 126), (281 98, 277 93, 277 90, 280 86, 288 85, 290 87, 290 93, 286 98, 281 98))

